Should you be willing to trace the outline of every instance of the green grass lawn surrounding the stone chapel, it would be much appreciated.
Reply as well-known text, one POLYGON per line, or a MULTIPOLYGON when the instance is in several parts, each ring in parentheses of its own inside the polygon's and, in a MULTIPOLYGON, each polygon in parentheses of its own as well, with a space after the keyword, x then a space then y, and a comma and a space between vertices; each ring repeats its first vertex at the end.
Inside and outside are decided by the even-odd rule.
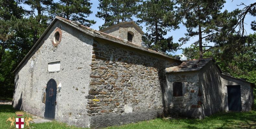
MULTIPOLYGON (((0 105, 0 129, 8 129, 6 124, 9 117, 16 116, 11 105, 0 105)), ((27 115, 27 114, 26 114, 27 115)), ((82 129, 67 124, 52 122, 30 124, 31 129, 82 129)), ((256 129, 256 111, 250 112, 222 112, 199 119, 154 119, 122 126, 112 126, 106 129, 256 129)))

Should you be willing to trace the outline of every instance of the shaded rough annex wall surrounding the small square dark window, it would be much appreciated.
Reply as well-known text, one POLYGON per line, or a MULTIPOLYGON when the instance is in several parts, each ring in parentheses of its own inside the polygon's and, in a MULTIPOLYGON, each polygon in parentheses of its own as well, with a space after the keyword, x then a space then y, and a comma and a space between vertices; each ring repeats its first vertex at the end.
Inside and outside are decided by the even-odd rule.
POLYGON ((201 118, 201 85, 198 72, 168 73, 166 96, 172 116, 201 118), (182 96, 173 96, 173 83, 182 82, 182 96))

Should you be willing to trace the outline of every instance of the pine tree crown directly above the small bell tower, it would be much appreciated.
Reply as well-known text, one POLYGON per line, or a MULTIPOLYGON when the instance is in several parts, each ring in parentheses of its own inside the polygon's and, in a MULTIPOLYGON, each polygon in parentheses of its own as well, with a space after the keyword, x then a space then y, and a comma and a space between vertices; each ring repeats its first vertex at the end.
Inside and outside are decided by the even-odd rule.
POLYGON ((132 17, 137 14, 137 4, 140 0, 99 0, 99 9, 96 17, 105 21, 99 26, 104 29, 119 22, 132 21, 132 17))

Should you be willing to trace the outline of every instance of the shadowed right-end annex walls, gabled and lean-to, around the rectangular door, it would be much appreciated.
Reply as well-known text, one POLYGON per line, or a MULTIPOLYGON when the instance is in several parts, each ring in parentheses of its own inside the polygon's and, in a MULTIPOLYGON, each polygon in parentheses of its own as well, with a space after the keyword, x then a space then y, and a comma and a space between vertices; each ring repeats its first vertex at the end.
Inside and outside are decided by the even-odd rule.
POLYGON ((213 62, 201 70, 199 78, 203 89, 201 98, 203 117, 220 111, 228 111, 227 85, 241 86, 242 111, 251 110, 253 95, 250 83, 221 74, 213 62))

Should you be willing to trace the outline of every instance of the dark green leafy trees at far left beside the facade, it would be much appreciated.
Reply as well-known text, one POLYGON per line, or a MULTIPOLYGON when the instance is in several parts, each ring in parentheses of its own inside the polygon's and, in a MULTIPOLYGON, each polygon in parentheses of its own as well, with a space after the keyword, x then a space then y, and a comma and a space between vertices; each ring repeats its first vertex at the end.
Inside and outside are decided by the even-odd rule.
POLYGON ((27 54, 32 42, 25 11, 14 0, 0 1, 0 86, 1 96, 11 97, 14 86, 12 71, 27 54))

